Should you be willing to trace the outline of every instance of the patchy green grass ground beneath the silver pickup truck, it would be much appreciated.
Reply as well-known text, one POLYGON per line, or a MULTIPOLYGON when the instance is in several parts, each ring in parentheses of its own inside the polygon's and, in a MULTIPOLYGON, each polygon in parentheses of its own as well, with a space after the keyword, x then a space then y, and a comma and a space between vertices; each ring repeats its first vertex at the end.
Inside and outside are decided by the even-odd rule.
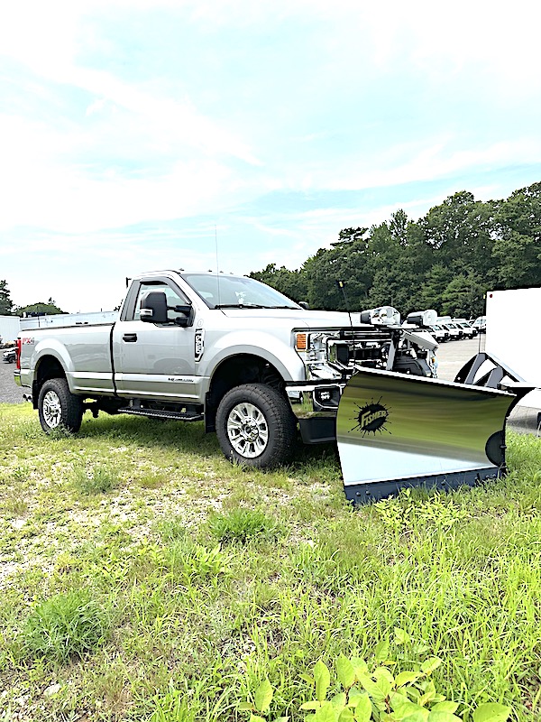
POLYGON ((51 439, 0 406, 0 720, 248 720, 268 677, 295 722, 318 659, 382 640, 398 670, 440 657, 464 719, 539 719, 541 441, 508 457, 498 482, 353 510, 333 449, 264 474, 201 424, 51 439))

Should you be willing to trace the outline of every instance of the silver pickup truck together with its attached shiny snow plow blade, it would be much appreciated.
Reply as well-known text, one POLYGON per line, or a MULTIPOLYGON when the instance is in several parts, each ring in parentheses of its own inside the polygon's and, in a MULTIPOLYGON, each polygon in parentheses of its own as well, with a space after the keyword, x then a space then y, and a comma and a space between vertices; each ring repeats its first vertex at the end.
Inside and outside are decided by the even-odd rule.
POLYGON ((299 429, 306 443, 338 440, 351 498, 369 482, 396 488, 430 477, 434 461, 412 464, 412 453, 450 458, 438 462, 436 477, 471 482, 480 463, 481 477, 503 467, 498 434, 510 394, 481 384, 468 395, 436 380, 437 344, 425 329, 435 317, 410 314, 401 325, 390 307, 307 310, 244 276, 145 273, 118 314, 23 321, 15 381, 31 390, 46 432, 78 431, 86 411, 204 421, 227 458, 265 468, 289 460, 299 429), (464 398, 468 413, 475 410, 474 433, 456 417, 464 398), (461 427, 451 437, 450 423, 461 427), (427 452, 419 452, 419 433, 427 452), (364 473, 358 448, 373 452, 381 441, 383 455, 367 452, 364 473), (383 457, 394 470, 387 461, 381 467, 383 457))

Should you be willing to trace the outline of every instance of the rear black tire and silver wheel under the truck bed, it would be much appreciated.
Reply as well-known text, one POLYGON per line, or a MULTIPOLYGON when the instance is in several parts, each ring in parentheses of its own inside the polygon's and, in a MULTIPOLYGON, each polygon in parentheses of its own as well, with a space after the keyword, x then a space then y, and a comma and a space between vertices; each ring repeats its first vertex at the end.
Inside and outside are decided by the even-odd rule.
POLYGON ((69 391, 65 378, 46 381, 38 397, 41 429, 50 434, 54 430, 75 433, 83 420, 83 400, 69 391))

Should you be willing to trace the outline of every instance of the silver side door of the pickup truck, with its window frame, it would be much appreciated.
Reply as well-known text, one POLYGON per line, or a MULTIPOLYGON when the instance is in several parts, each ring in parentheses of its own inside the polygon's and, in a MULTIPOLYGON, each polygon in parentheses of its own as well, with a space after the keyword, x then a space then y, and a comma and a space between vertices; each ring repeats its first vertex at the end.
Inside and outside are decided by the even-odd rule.
POLYGON ((168 307, 191 303, 170 279, 134 282, 113 335, 115 384, 119 395, 197 402, 195 328, 179 327, 168 311, 167 324, 141 320, 141 301, 148 292, 164 292, 168 307))

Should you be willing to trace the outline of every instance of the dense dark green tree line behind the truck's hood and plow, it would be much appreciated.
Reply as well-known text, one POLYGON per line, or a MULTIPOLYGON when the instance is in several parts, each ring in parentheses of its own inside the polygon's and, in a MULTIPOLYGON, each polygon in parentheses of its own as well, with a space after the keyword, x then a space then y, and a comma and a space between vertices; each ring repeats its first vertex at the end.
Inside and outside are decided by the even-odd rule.
POLYGON ((379 226, 344 228, 296 271, 269 264, 250 275, 313 309, 477 317, 486 291, 541 285, 541 182, 502 200, 461 190, 417 221, 398 210, 379 226))

